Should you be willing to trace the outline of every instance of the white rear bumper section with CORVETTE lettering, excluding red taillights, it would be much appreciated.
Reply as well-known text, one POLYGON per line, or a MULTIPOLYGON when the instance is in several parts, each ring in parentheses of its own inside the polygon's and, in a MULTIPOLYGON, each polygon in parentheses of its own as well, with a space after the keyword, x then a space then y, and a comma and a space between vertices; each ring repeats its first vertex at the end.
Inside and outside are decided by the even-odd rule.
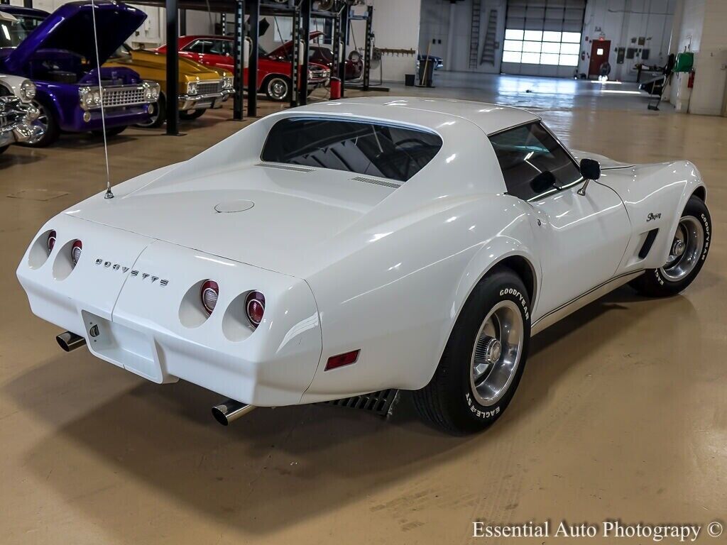
POLYGON ((321 358, 304 281, 67 215, 36 236, 17 277, 33 313, 84 336, 98 358, 160 384, 184 379, 242 403, 295 405, 321 358), (46 259, 50 229, 57 243, 46 259), (71 267, 76 238, 83 251, 71 267), (200 286, 210 278, 220 297, 208 317, 200 286), (252 289, 267 303, 257 329, 244 318, 252 289))

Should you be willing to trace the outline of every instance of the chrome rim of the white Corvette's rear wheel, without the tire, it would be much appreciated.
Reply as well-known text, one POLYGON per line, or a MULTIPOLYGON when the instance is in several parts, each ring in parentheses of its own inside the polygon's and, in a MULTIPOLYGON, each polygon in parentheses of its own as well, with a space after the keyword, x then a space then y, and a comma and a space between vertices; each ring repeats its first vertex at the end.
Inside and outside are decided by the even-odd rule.
POLYGON ((470 373, 472 392, 481 405, 497 403, 513 382, 523 334, 523 318, 515 302, 499 302, 483 320, 475 337, 470 373))

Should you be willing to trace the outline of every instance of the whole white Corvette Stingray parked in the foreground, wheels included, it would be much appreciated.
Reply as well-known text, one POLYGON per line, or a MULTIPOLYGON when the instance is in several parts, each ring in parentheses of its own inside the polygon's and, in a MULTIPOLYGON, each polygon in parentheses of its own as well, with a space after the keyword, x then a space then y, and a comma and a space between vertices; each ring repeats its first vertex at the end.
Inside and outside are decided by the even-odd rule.
POLYGON ((223 423, 406 389, 481 429, 531 335, 630 281, 678 293, 711 236, 688 161, 569 151, 532 113, 455 100, 286 110, 114 193, 41 228, 31 308, 66 350, 229 397, 223 423))

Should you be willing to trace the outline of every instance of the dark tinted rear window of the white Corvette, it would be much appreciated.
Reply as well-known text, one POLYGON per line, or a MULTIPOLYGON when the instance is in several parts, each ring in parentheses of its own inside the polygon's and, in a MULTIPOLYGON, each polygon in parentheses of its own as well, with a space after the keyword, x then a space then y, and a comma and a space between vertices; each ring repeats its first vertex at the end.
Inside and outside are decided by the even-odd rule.
POLYGON ((315 166, 406 182, 442 147, 411 127, 322 118, 286 118, 270 129, 262 161, 315 166))

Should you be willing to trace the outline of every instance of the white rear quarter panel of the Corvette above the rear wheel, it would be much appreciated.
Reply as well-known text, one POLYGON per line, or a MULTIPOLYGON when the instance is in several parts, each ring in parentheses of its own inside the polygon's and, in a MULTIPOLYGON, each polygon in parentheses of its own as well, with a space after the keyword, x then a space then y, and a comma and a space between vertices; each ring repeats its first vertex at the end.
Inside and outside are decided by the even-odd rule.
POLYGON ((443 200, 366 233, 360 250, 309 278, 324 349, 302 402, 425 386, 486 271, 509 255, 534 261, 526 215, 503 195, 443 200), (358 349, 355 364, 324 371, 358 349))

